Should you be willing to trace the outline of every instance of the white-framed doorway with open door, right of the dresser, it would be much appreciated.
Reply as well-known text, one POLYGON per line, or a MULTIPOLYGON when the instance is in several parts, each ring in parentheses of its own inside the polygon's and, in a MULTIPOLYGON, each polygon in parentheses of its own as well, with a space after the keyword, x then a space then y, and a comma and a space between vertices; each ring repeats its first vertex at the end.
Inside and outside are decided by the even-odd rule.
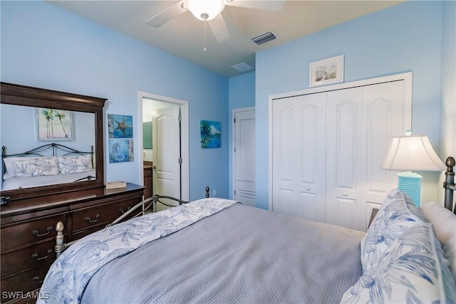
MULTIPOLYGON (((140 174, 152 164, 152 194, 189 200, 188 103, 152 93, 139 93, 140 174), (148 128, 151 128, 149 130, 148 128), (150 134, 150 140, 147 135, 150 134)), ((158 208, 160 209, 160 208, 158 208)))

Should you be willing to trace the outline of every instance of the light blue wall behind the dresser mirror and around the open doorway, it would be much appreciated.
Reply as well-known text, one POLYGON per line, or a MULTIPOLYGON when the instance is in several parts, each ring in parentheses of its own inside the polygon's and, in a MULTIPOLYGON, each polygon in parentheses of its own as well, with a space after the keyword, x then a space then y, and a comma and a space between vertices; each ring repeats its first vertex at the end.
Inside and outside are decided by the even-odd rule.
MULTIPOLYGON (((140 43, 43 1, 1 1, 1 81, 108 98, 109 114, 132 115, 135 139, 138 91, 187 100, 190 112, 190 199, 204 188, 228 194, 228 136, 222 148, 199 147, 199 120, 228 128, 228 79, 193 63, 140 43)), ((228 132, 224 133, 228 134, 228 132)), ((142 184, 135 141, 135 162, 109 164, 105 179, 142 184)))

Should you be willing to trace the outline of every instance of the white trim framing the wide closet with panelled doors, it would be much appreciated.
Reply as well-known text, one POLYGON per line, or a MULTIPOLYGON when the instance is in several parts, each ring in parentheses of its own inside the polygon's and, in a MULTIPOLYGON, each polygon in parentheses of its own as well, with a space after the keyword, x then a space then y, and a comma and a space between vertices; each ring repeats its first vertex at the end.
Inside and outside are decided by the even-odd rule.
POLYGON ((412 85, 413 73, 400 73, 395 75, 388 75, 378 78, 371 78, 365 80, 353 81, 350 83, 338 83, 336 85, 325 85, 323 87, 309 88, 306 90, 298 90, 294 92, 280 93, 269 95, 268 98, 268 209, 272 210, 272 103, 274 100, 282 98, 290 98, 298 95, 309 95, 314 93, 328 92, 331 90, 342 90, 347 88, 355 88, 364 85, 374 85, 377 83, 388 83, 390 81, 405 80, 404 90, 404 131, 412 130, 412 85))

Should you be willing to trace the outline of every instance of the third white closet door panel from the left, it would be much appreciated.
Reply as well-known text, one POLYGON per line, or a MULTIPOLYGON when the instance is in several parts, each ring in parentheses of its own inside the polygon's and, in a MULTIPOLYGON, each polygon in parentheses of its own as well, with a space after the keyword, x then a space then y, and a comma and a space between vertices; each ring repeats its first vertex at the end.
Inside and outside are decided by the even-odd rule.
POLYGON ((350 88, 328 92, 327 100, 326 222, 353 229, 361 196, 362 97, 361 88, 350 88))

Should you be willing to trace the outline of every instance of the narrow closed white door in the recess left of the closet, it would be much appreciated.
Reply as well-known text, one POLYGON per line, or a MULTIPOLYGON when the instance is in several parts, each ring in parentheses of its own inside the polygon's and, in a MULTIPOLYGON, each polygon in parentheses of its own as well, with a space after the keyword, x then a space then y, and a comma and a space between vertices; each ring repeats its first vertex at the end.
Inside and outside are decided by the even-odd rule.
POLYGON ((234 199, 255 206, 255 110, 234 111, 234 199))

